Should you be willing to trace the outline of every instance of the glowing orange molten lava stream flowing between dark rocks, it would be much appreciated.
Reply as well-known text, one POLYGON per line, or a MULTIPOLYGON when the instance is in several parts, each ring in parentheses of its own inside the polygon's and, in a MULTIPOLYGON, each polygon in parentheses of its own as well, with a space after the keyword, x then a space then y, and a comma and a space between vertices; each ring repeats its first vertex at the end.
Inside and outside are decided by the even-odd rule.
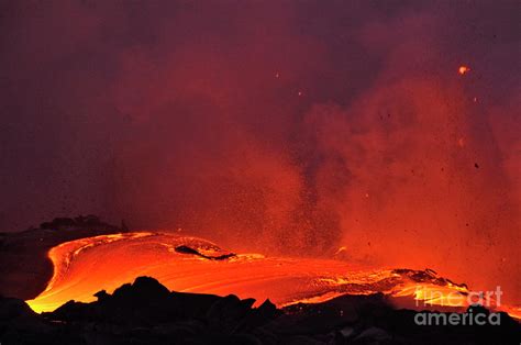
POLYGON ((466 307, 469 292, 429 269, 376 270, 340 260, 235 255, 208 241, 169 233, 81 238, 52 248, 48 256, 53 278, 44 292, 27 301, 37 312, 69 300, 92 301, 97 291, 111 292, 137 276, 154 277, 175 291, 234 293, 260 302, 270 299, 279 307, 376 292, 466 307))

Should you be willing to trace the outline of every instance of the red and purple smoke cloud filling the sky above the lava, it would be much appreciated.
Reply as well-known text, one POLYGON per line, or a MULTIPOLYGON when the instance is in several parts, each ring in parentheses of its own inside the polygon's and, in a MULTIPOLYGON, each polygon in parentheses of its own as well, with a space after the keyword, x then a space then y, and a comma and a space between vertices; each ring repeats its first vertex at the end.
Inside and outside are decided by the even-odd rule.
POLYGON ((264 253, 345 246, 512 296, 516 9, 4 3, 0 226, 96 213, 264 253))

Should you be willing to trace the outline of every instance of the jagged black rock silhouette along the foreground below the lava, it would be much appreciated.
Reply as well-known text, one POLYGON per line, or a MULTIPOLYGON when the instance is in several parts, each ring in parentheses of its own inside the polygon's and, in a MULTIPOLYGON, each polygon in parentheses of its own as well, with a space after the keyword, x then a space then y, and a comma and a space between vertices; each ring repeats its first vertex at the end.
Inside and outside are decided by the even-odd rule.
MULTIPOLYGON (((344 296, 278 310, 269 301, 170 292, 140 277, 98 301, 35 314, 0 298, 0 342, 9 344, 519 344, 521 325, 421 326, 383 294, 344 296)), ((487 312, 486 310, 481 310, 487 312)))

